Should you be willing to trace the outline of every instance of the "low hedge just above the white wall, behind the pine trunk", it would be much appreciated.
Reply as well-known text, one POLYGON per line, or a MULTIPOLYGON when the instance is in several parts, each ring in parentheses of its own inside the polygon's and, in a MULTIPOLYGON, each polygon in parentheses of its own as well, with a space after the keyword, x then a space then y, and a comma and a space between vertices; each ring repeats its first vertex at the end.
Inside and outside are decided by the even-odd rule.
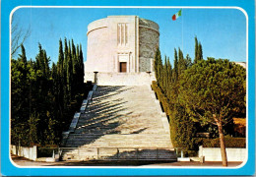
MULTIPOLYGON (((195 144, 204 148, 220 148, 220 139, 194 139, 195 144)), ((246 138, 224 138, 225 148, 246 148, 246 138)))

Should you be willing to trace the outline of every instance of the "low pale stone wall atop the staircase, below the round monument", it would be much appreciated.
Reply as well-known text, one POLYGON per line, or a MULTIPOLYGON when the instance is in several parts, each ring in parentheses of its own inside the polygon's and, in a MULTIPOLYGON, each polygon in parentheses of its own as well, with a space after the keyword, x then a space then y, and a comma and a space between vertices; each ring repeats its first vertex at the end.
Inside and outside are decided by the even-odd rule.
MULTIPOLYGON (((97 73, 98 86, 150 86, 156 81, 155 73, 97 73)), ((95 73, 86 72, 85 82, 95 82, 95 73)))

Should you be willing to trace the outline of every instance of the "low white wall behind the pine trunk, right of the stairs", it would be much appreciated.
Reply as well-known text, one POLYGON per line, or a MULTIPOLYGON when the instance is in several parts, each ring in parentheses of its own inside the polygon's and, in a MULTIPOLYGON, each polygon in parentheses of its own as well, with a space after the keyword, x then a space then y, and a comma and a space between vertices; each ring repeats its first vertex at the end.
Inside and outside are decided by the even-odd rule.
MULTIPOLYGON (((246 148, 225 148, 227 161, 246 160, 246 148)), ((205 156, 205 161, 222 161, 221 148, 199 147, 199 157, 205 156)))

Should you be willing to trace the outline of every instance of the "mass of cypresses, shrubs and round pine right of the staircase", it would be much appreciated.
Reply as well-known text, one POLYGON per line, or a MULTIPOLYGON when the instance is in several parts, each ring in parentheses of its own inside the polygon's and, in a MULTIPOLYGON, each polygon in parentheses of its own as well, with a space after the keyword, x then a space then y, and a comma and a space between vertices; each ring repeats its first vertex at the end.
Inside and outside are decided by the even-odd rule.
POLYGON ((217 137, 220 130, 224 135, 234 135, 232 115, 244 112, 246 105, 242 67, 228 60, 203 60, 202 45, 195 37, 194 63, 189 55, 184 58, 180 48, 174 48, 172 68, 166 56, 162 64, 158 49, 155 72, 157 82, 152 88, 168 117, 174 147, 191 153, 197 149, 194 137, 202 131, 212 137, 217 137), (222 129, 218 129, 217 119, 222 129))

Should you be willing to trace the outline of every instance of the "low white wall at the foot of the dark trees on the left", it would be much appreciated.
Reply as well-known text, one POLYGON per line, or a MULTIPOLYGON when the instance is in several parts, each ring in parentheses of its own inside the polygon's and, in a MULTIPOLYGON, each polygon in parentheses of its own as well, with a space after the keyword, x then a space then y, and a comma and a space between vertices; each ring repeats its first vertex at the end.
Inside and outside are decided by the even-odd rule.
POLYGON ((36 146, 30 147, 18 147, 11 145, 11 154, 16 154, 18 156, 24 156, 26 158, 35 160, 37 157, 36 146))

